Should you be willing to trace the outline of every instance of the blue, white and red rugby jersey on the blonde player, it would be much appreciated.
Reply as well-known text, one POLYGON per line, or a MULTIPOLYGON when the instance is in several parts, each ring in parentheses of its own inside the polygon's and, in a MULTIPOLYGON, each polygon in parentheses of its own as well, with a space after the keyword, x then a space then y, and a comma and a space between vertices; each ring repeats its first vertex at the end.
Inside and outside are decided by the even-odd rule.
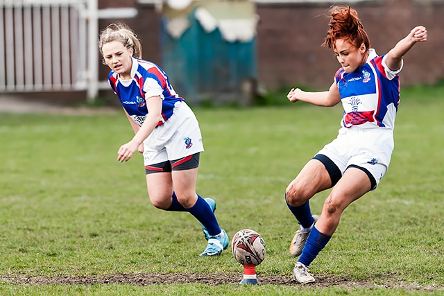
POLYGON ((108 82, 123 108, 139 126, 142 126, 149 112, 146 99, 152 96, 162 98, 162 115, 157 125, 161 125, 173 115, 176 102, 184 101, 171 87, 167 74, 153 62, 133 58, 131 76, 131 80, 121 80, 117 73, 110 71, 108 82))

